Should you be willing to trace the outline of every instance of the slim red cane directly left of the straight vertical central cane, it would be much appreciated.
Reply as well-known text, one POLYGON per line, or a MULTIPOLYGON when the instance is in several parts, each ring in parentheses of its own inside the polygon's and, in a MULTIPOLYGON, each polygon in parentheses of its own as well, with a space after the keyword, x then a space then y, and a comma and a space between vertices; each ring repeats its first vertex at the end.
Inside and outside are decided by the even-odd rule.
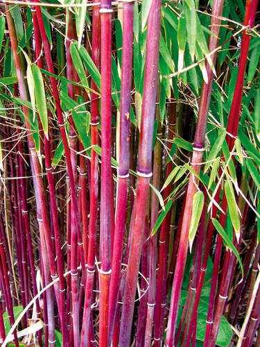
MULTIPOLYGON (((95 1, 94 1, 95 2, 95 1)), ((96 67, 100 66, 100 15, 99 6, 94 6, 92 13, 92 60, 96 67)), ((98 91, 92 80, 92 90, 98 91)), ((98 145, 99 124, 99 100, 91 94, 91 143, 98 145)), ((87 281, 85 285, 85 303, 83 310, 83 328, 81 331, 80 347, 87 346, 89 335, 89 321, 91 319, 92 289, 95 278, 95 255, 96 255, 96 226, 98 219, 98 154, 91 150, 91 174, 90 174, 90 202, 89 202, 89 252, 87 254, 87 281)))

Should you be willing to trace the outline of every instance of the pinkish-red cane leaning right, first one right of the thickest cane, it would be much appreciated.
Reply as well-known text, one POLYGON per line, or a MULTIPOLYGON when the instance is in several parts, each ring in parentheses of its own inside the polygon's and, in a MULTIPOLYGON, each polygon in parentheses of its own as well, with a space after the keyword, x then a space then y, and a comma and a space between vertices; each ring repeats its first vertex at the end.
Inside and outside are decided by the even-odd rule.
MULTIPOLYGON (((214 31, 216 36, 209 35, 209 51, 213 51, 216 49, 218 45, 218 32, 220 28, 220 15, 222 15, 223 11, 223 0, 214 1, 214 6, 212 8, 212 17, 211 17, 211 30, 214 31)), ((211 60, 213 64, 216 63, 216 53, 211 56, 211 60)), ((193 165, 193 169, 197 174, 200 172, 200 163, 202 162, 202 156, 204 151, 204 142, 205 142, 205 131, 207 126, 207 115, 209 111, 209 102, 211 96, 212 82, 213 82, 213 72, 209 67, 208 62, 206 62, 208 83, 202 83, 202 91, 200 96, 200 108, 198 113, 198 122, 196 126, 196 133, 194 138, 193 145, 193 158, 191 164, 193 165)), ((166 341, 165 344, 167 347, 172 347, 175 339, 175 328, 177 322, 177 311, 180 301, 180 291, 182 289, 182 279, 184 274, 184 266, 183 264, 187 259, 187 251, 188 251, 188 237, 189 237, 189 223, 191 220, 191 211, 192 211, 192 203, 193 196, 196 193, 197 187, 195 182, 197 182, 193 174, 190 175, 189 185, 187 188, 187 198, 185 201, 185 219, 182 221, 182 231, 180 235, 180 244, 177 253, 177 260, 175 266, 175 274, 173 278, 173 289, 171 296, 171 305, 170 312, 168 318, 167 332, 166 332, 166 341)))

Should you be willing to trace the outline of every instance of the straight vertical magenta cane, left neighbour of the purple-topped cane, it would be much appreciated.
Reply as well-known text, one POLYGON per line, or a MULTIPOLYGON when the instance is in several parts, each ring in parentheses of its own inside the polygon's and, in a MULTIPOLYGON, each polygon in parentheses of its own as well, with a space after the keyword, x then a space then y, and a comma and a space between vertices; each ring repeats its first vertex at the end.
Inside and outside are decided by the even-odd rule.
POLYGON ((99 344, 107 346, 108 301, 111 274, 111 143, 112 143, 112 5, 111 0, 101 0, 101 221, 99 271, 99 344))

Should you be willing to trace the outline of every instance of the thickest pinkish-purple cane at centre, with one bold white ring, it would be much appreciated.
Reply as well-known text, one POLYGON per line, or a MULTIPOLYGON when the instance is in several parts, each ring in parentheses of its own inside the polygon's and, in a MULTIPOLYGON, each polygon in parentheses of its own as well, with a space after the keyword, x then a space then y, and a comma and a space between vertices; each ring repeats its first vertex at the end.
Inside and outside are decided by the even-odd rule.
POLYGON ((125 279, 123 311, 121 317, 119 346, 129 346, 132 330, 135 293, 144 242, 144 222, 148 199, 150 176, 152 176, 153 127, 155 121, 155 101, 158 78, 159 31, 161 2, 153 0, 148 15, 146 42, 146 67, 144 74, 144 97, 141 115, 141 133, 139 139, 139 157, 137 164, 137 197, 133 208, 131 223, 132 235, 128 257, 128 269, 125 279))

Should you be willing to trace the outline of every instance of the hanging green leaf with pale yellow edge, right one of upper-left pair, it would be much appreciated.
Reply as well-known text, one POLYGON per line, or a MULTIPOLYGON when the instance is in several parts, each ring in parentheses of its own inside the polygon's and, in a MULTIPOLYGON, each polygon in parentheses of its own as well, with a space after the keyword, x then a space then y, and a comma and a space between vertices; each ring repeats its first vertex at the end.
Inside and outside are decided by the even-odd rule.
POLYGON ((33 65, 33 81, 35 83, 35 99, 37 103, 37 108, 39 111, 39 116, 42 121, 42 128, 44 130, 44 134, 48 137, 48 112, 47 112, 47 105, 46 105, 46 96, 45 96, 45 90, 44 90, 44 81, 42 78, 42 73, 40 71, 40 68, 37 67, 37 65, 33 65))

